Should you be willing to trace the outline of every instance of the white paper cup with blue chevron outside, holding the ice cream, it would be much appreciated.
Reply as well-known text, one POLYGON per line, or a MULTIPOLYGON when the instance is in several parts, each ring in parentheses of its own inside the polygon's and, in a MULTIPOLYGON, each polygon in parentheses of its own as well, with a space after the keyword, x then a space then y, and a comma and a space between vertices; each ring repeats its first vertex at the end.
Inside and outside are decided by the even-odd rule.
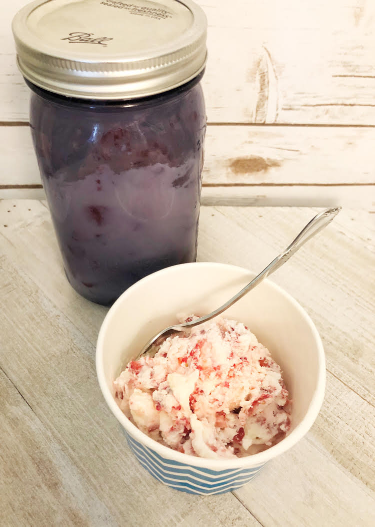
POLYGON ((266 280, 224 314, 246 324, 281 366, 292 399, 291 428, 278 444, 234 460, 209 460, 176 452, 138 430, 118 408, 113 380, 146 341, 176 315, 203 315, 224 304, 254 278, 240 267, 185 264, 156 272, 131 286, 110 308, 97 341, 99 385, 124 429, 128 444, 159 481, 194 494, 228 492, 251 481, 262 466, 309 430, 325 391, 322 343, 305 310, 285 291, 266 280))

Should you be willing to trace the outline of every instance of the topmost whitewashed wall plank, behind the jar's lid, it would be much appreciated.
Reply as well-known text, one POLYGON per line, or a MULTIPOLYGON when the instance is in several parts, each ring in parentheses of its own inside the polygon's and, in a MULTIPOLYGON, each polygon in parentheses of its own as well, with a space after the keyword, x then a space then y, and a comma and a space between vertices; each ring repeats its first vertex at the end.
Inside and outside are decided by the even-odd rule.
MULTIPOLYGON (((209 22, 209 121, 375 123, 372 2, 197 2, 209 22)), ((28 120, 11 34, 11 20, 26 3, 3 6, 0 121, 28 120)))

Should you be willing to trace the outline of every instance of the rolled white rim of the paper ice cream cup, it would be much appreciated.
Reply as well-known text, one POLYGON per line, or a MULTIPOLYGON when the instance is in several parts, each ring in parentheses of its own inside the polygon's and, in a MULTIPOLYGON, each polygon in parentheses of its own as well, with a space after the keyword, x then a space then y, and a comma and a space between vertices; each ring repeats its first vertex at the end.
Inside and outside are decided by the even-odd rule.
MULTIPOLYGON (((239 267, 235 265, 229 265, 229 264, 219 264, 217 262, 193 262, 191 264, 180 264, 177 266, 171 266, 167 267, 165 269, 161 269, 160 271, 156 271, 151 275, 146 276, 145 278, 142 278, 132 286, 130 286, 126 291, 123 292, 123 294, 114 302, 113 306, 109 308, 109 311, 106 315, 106 317, 103 320, 102 327, 100 327, 100 331, 98 334, 97 344, 96 344, 96 373, 98 377, 98 382, 100 389, 102 390, 103 396, 105 398, 105 401, 107 405, 109 406, 112 413, 115 415, 119 423, 125 428, 125 430, 129 433, 130 436, 132 436, 136 441, 143 444, 144 446, 150 448, 150 450, 155 451, 157 454, 159 454, 161 457, 163 457, 166 460, 175 461, 177 463, 183 463, 186 465, 191 465, 193 467, 201 467, 205 469, 211 469, 211 470, 230 470, 230 469, 246 469, 258 465, 263 465, 267 461, 271 460, 273 457, 276 457, 283 452, 286 452, 294 446, 311 428, 313 423, 315 422, 315 419, 318 417, 318 414, 320 412, 321 405, 323 403, 323 399, 325 396, 325 388, 326 388, 326 359, 323 349, 323 344, 320 338, 320 335, 318 333, 317 328, 315 327, 315 324, 309 317, 309 315, 306 313, 305 309, 302 308, 302 306, 295 300, 287 291, 282 289, 280 286, 275 284, 275 282, 272 282, 271 280, 266 279, 265 282, 269 286, 271 286, 273 289, 276 289, 282 296, 286 297, 291 304, 293 304, 299 313, 305 318, 308 325, 310 326, 312 330, 312 334, 315 337, 317 348, 318 348, 318 383, 317 388, 312 396, 312 400, 310 403, 310 406, 305 414, 305 417, 303 417, 302 421, 292 430, 292 432, 287 435, 285 438, 283 438, 279 443, 277 443, 274 446, 270 446, 267 448, 267 450, 263 452, 259 452, 258 454, 250 454, 248 456, 244 457, 238 457, 236 459, 208 459, 205 457, 198 457, 198 456, 191 456, 189 454, 184 454, 182 452, 177 452, 176 450, 173 450, 173 448, 170 448, 168 446, 162 445, 161 443, 158 443, 157 441, 153 440, 151 437, 149 437, 144 432, 141 432, 139 428, 137 428, 131 421, 126 417, 126 415, 120 410, 120 408, 117 406, 115 399, 113 397, 113 394, 110 392, 110 389, 107 386, 107 382, 104 376, 104 370, 103 370, 103 341, 104 341, 104 335, 107 330, 107 326, 109 324, 110 319, 113 317, 113 313, 116 310, 118 304, 124 301, 124 298, 129 294, 129 292, 133 292, 135 289, 137 289, 140 286, 143 286, 147 281, 153 280, 155 275, 165 274, 167 272, 170 272, 170 270, 177 268, 177 267, 191 267, 191 266, 200 266, 200 267, 226 267, 226 268, 232 268, 236 270, 245 271, 251 274, 251 271, 249 269, 245 269, 244 267, 239 267)), ((253 273, 254 274, 254 273, 253 273)))

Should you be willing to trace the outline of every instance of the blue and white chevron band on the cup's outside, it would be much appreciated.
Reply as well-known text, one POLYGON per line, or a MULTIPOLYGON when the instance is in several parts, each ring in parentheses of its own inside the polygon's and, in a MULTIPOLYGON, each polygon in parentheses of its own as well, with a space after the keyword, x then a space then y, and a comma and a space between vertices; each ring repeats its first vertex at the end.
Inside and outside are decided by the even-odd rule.
POLYGON ((221 471, 193 467, 161 457, 126 432, 125 436, 131 451, 151 475, 173 489, 190 494, 223 494, 238 489, 253 480, 264 466, 221 471))

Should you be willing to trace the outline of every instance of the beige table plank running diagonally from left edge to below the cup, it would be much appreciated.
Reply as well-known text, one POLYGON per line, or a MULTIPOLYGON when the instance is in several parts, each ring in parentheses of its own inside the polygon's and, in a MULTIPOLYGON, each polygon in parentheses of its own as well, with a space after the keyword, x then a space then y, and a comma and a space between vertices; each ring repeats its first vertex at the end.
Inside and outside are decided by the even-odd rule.
MULTIPOLYGON (((259 525, 230 493, 201 499, 176 492, 141 468, 100 393, 93 344, 5 256, 0 288, 1 367, 116 524, 259 525)), ((92 307, 87 302, 88 313, 92 307)), ((9 455, 5 461, 13 463, 15 452, 9 455)), ((21 493, 27 491, 22 476, 15 483, 21 493)), ((68 492, 67 482, 55 492, 58 501, 68 492)), ((30 524, 36 524, 33 517, 30 524)))

